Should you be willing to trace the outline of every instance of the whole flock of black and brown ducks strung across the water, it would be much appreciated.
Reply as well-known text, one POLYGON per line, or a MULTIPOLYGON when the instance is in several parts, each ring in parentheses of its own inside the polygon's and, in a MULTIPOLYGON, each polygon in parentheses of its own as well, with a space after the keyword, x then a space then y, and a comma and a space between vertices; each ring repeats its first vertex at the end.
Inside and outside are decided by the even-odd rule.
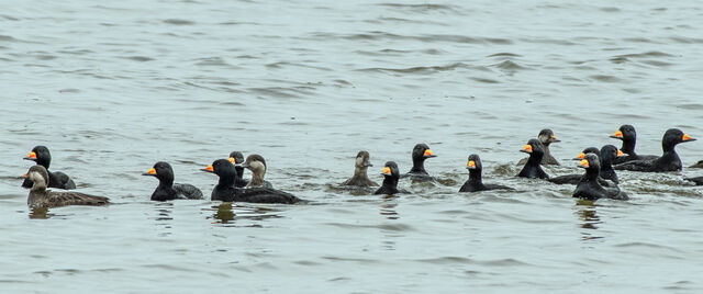
MULTIPOLYGON (((549 145, 559 142, 551 129, 543 129, 537 138, 529 139, 520 150, 529 155, 518 165, 524 165, 517 177, 529 179, 545 179, 557 184, 576 184, 574 197, 585 200, 614 199, 627 200, 625 192, 621 191, 615 170, 632 170, 645 172, 680 171, 682 169, 681 159, 676 152, 676 146, 680 143, 692 142, 694 138, 684 134, 678 128, 668 129, 661 139, 663 154, 661 156, 641 156, 635 152, 637 134, 632 125, 620 127, 612 138, 621 139, 621 149, 613 145, 605 145, 598 149, 595 147, 585 148, 576 160, 579 167, 585 169, 583 174, 568 174, 550 178, 543 169, 542 165, 559 165, 551 156, 549 145)), ((413 181, 435 181, 434 177, 424 168, 424 162, 428 158, 435 157, 434 152, 426 144, 417 144, 413 148, 412 169, 404 174, 400 174, 398 165, 388 161, 383 166, 383 182, 373 194, 398 194, 408 193, 399 190, 398 182, 401 178, 411 178, 413 181)), ((78 192, 57 192, 47 188, 64 190, 76 189, 76 184, 67 174, 56 171, 48 171, 52 156, 45 146, 36 146, 24 159, 33 160, 35 166, 31 167, 22 186, 30 189, 27 204, 31 207, 56 207, 64 205, 104 205, 109 203, 108 197, 94 196, 78 192)), ((368 151, 359 151, 355 159, 354 176, 343 182, 343 186, 372 188, 379 184, 368 178, 367 170, 372 167, 368 151)), ((692 166, 703 168, 703 160, 692 166)), ((484 184, 481 178, 481 158, 472 154, 468 158, 467 169, 469 179, 461 185, 459 192, 478 192, 486 190, 512 188, 499 184, 484 184)), ((293 204, 302 200, 293 194, 274 189, 272 184, 264 180, 266 173, 266 160, 260 155, 250 155, 244 160, 242 152, 233 151, 227 159, 217 159, 202 171, 214 173, 219 177, 219 182, 211 193, 211 200, 223 202, 253 202, 253 203, 284 203, 293 204), (252 179, 243 179, 244 169, 252 172, 252 179)), ((191 184, 174 183, 174 170, 167 162, 159 161, 154 165, 143 176, 156 177, 158 186, 152 194, 153 201, 168 201, 175 199, 202 199, 202 192, 191 184)), ((698 185, 703 185, 703 177, 688 178, 698 185)))

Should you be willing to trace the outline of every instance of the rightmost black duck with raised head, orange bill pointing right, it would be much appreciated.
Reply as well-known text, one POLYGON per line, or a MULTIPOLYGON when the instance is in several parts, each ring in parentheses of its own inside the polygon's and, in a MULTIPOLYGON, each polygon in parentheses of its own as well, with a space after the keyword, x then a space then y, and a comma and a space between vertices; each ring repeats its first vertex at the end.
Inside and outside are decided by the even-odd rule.
POLYGON ((645 172, 680 171, 681 159, 676 147, 679 143, 693 142, 694 138, 678 128, 669 128, 661 137, 661 157, 649 160, 634 160, 614 167, 615 170, 632 170, 645 172))

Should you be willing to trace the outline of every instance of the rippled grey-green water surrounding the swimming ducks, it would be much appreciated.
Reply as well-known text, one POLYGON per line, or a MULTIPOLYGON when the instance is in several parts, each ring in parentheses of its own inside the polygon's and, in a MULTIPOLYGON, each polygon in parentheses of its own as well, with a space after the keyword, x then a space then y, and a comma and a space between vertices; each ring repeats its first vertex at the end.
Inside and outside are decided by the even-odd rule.
MULTIPOLYGON (((516 179, 550 127, 569 158, 637 127, 703 138, 695 1, 9 1, 0 10, 0 289, 7 293, 701 293, 703 190, 621 172, 628 202, 516 179), (336 188, 358 150, 442 184, 336 188), (108 207, 26 207, 33 146, 108 207), (260 154, 305 205, 150 202, 141 173, 260 154), (514 192, 457 193, 469 154, 514 192)), ((701 140, 678 151, 690 166, 701 140)), ((245 173, 248 178, 250 174, 245 173)))

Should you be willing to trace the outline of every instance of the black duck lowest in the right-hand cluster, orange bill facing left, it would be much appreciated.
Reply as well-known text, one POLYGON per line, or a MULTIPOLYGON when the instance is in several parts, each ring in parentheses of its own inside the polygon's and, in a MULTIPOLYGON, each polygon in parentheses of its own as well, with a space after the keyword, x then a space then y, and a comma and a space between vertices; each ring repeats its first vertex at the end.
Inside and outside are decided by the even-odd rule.
POLYGON ((598 158, 598 155, 585 155, 585 158, 579 162, 579 167, 585 169, 585 174, 581 178, 579 184, 577 184, 576 190, 573 190, 573 197, 591 201, 596 201, 599 199, 629 199, 625 192, 620 190, 620 188, 605 188, 599 183, 598 179, 601 169, 601 160, 598 158))

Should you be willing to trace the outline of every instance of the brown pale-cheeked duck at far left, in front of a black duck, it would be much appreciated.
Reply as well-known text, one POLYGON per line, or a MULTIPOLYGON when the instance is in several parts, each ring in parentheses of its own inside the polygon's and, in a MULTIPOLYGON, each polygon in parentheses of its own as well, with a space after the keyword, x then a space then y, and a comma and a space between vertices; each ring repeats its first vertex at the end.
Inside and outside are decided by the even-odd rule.
POLYGON ((105 205, 108 197, 93 196, 78 192, 55 192, 47 190, 48 171, 40 165, 33 166, 26 172, 26 179, 32 181, 26 204, 32 207, 59 207, 66 205, 105 205))

